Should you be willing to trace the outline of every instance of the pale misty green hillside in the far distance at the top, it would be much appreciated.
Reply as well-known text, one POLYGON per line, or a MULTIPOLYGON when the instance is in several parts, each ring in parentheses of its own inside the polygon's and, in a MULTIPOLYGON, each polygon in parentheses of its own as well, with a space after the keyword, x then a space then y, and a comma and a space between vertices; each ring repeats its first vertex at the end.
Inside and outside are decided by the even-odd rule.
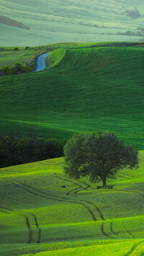
POLYGON ((88 0, 0 0, 0 15, 30 27, 22 30, 0 24, 1 46, 139 41, 144 37, 143 0, 91 0, 91 4, 88 0))

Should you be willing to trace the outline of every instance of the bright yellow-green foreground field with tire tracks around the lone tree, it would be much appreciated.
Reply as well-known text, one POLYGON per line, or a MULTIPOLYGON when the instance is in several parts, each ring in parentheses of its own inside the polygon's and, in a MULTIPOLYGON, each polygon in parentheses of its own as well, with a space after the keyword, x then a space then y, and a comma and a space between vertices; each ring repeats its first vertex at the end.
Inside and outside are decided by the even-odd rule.
POLYGON ((112 190, 63 174, 63 158, 0 171, 0 255, 143 255, 144 151, 112 190))

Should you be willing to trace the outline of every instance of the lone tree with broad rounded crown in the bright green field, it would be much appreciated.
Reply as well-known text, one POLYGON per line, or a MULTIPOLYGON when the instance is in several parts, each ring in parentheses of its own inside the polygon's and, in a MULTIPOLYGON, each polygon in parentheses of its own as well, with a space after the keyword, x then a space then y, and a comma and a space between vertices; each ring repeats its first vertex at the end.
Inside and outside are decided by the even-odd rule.
POLYGON ((90 177, 91 182, 102 180, 103 187, 119 169, 138 167, 138 151, 120 141, 113 133, 81 133, 64 146, 67 175, 79 179, 90 177))

